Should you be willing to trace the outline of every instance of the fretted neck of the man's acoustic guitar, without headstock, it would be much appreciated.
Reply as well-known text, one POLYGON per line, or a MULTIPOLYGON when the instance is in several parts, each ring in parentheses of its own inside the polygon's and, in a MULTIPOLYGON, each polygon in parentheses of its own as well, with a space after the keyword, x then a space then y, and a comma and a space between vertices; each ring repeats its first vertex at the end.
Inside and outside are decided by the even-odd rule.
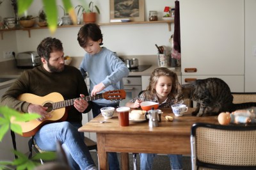
POLYGON ((67 107, 67 106, 70 106, 70 105, 74 105, 75 100, 80 100, 81 98, 83 98, 83 100, 86 100, 87 102, 90 102, 92 100, 97 100, 97 99, 104 98, 104 97, 103 97, 103 93, 100 93, 100 94, 97 94, 93 97, 91 97, 91 96, 79 97, 79 98, 64 100, 64 101, 61 101, 61 102, 54 102, 54 103, 52 103, 52 109, 55 110, 55 109, 60 109, 62 107, 67 107))

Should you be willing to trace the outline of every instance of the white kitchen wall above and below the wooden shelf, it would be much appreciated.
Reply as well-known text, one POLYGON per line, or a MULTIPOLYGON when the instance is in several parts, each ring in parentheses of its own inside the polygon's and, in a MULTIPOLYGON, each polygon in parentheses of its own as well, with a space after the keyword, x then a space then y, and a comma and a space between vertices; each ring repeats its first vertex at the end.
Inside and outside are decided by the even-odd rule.
MULTIPOLYGON (((93 1, 100 8, 99 23, 109 22, 109 0, 94 0, 93 1)), ((6 3, 6 1, 4 1, 6 3)), ((79 1, 72 0, 74 6, 79 1)), ((58 4, 62 1, 58 0, 58 4)), ((156 10, 159 16, 163 15, 164 6, 172 6, 174 8, 174 1, 166 0, 145 0, 145 20, 148 20, 148 11, 156 10)), ((29 15, 36 16, 41 9, 42 1, 34 1, 28 10, 29 15)), ((2 7, 2 6, 1 6, 2 7)), ((0 8, 1 8, 0 7, 0 8)), ((2 8, 1 8, 2 10, 2 8)), ((5 10, 5 8, 3 9, 5 10)), ((63 12, 60 8, 60 17, 63 12)), ((10 13, 13 13, 12 6, 10 6, 10 13)), ((6 13, 1 14, 6 17, 6 13)), ((159 17, 160 19, 160 17, 159 17)), ((171 46, 169 38, 173 33, 168 30, 168 24, 129 24, 129 25, 114 25, 101 26, 103 34, 104 47, 117 52, 120 56, 126 55, 154 55, 157 53, 155 43, 157 45, 171 46)), ((60 38, 63 42, 65 54, 68 56, 83 56, 84 50, 79 47, 77 43, 77 32, 79 27, 60 28, 57 29, 54 35, 51 35, 48 29, 31 30, 31 38, 28 36, 28 31, 8 31, 4 32, 4 39, 0 40, 0 59, 3 60, 3 50, 13 49, 15 52, 23 52, 26 50, 36 50, 40 41, 47 36, 54 36, 60 38), (10 34, 12 36, 10 36, 10 34), (4 46, 2 47, 2 45, 4 46)), ((1 60, 0 60, 1 61, 1 60)))

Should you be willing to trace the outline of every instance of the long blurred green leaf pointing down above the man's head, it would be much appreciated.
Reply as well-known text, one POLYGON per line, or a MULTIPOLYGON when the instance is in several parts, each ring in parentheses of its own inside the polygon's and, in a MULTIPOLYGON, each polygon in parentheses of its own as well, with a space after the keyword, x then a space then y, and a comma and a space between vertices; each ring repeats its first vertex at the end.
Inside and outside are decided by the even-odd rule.
POLYGON ((43 0, 45 7, 45 14, 47 17, 48 27, 51 33, 54 33, 57 29, 58 24, 58 12, 56 1, 43 0))

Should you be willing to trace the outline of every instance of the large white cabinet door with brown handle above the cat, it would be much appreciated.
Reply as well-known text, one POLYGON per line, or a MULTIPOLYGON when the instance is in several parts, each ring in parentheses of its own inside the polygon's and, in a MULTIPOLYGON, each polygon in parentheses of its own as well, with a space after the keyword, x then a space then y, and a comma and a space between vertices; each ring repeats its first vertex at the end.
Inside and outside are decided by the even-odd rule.
POLYGON ((180 1, 180 44, 182 82, 194 75, 232 75, 239 81, 228 85, 244 91, 244 0, 180 1))

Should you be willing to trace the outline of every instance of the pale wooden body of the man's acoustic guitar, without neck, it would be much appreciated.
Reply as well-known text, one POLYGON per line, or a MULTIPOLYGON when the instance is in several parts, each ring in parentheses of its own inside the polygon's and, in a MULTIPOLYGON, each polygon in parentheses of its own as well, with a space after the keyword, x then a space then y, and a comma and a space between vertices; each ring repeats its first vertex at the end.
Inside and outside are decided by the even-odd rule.
MULTIPOLYGON (((32 104, 45 105, 53 102, 61 102, 64 100, 60 93, 50 93, 44 97, 39 97, 31 93, 24 93, 18 97, 18 100, 26 101, 32 104)), ((65 121, 67 119, 67 113, 65 112, 65 107, 60 109, 49 111, 51 118, 46 118, 43 121, 31 120, 31 121, 15 121, 12 120, 12 123, 19 124, 22 127, 22 136, 29 137, 35 135, 36 132, 45 124, 53 123, 56 121, 65 121)))

